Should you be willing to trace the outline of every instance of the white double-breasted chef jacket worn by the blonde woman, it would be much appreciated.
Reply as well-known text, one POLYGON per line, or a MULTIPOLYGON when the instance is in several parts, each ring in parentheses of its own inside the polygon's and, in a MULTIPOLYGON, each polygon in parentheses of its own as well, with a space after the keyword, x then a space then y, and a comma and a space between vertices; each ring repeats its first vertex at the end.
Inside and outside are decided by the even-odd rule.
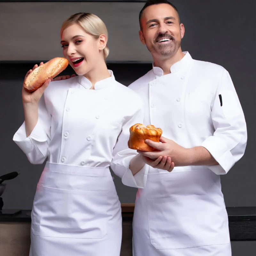
POLYGON ((65 165, 111 165, 124 183, 143 187, 143 180, 138 179, 138 186, 129 169, 137 152, 127 145, 129 128, 143 122, 143 103, 108 72, 111 77, 97 82, 95 90, 90 90, 92 84, 84 76, 51 82, 38 103, 35 128, 27 137, 24 122, 13 140, 32 164, 48 158, 50 163, 65 165))

